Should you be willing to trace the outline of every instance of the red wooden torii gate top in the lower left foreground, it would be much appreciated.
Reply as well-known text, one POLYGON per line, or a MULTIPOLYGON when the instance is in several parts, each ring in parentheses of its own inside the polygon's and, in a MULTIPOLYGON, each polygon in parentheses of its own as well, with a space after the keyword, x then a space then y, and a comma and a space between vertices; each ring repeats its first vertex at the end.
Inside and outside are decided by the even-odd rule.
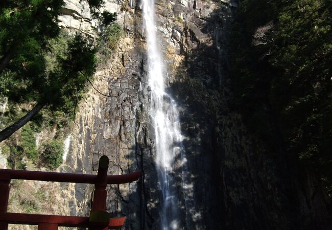
POLYGON ((0 169, 0 230, 7 230, 10 223, 38 225, 38 230, 56 230, 58 226, 89 227, 90 230, 121 228, 126 217, 110 218, 109 213, 106 212, 106 186, 138 180, 141 171, 127 175, 108 176, 108 163, 108 157, 105 155, 99 159, 97 175, 0 169), (78 217, 7 213, 11 179, 94 184, 90 215, 89 217, 78 217))

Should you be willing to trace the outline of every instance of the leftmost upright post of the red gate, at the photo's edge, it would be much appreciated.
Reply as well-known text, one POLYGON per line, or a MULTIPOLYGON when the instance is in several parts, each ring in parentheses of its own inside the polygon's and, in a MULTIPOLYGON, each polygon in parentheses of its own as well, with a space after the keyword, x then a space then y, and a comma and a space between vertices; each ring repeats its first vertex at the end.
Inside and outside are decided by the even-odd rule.
MULTIPOLYGON (((0 174, 0 212, 6 213, 9 200, 10 174, 0 174)), ((0 221, 0 230, 7 230, 8 222, 0 221)))

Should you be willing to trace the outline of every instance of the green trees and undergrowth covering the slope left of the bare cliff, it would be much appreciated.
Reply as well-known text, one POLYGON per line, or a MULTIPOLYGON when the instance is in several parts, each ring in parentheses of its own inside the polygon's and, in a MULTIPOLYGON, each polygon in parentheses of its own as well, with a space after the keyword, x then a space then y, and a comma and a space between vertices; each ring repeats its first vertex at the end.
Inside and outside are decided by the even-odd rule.
POLYGON ((1 150, 11 168, 60 166, 64 127, 92 84, 97 52, 107 49, 109 56, 123 35, 116 14, 99 10, 102 0, 87 2, 104 28, 97 43, 80 31, 59 29, 63 0, 0 3, 0 99, 6 101, 0 142, 6 140, 1 150))

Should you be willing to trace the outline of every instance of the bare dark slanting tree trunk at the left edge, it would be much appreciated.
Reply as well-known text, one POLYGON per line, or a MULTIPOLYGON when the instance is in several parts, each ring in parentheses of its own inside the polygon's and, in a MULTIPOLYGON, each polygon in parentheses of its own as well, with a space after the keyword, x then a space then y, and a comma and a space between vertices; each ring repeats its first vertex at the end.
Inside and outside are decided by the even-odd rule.
POLYGON ((19 128, 21 128, 23 125, 27 124, 28 121, 31 120, 31 118, 37 114, 42 107, 44 107, 45 104, 43 103, 37 103, 35 107, 33 107, 26 116, 19 119, 14 124, 8 126, 4 130, 0 132, 0 142, 6 140, 8 137, 10 137, 14 132, 16 132, 19 128))

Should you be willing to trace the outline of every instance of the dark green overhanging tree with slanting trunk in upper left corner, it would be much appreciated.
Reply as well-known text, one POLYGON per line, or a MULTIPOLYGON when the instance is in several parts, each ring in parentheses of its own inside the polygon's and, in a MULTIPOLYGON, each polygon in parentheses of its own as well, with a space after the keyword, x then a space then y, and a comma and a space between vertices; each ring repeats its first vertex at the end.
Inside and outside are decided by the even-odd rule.
MULTIPOLYGON (((102 0, 88 0, 94 17, 105 24, 116 14, 100 8, 102 0)), ((0 3, 1 96, 16 103, 35 102, 25 116, 0 132, 0 142, 30 121, 40 109, 68 110, 96 68, 96 52, 89 38, 77 33, 53 59, 52 41, 59 40, 58 16, 63 0, 5 0, 0 3)))

